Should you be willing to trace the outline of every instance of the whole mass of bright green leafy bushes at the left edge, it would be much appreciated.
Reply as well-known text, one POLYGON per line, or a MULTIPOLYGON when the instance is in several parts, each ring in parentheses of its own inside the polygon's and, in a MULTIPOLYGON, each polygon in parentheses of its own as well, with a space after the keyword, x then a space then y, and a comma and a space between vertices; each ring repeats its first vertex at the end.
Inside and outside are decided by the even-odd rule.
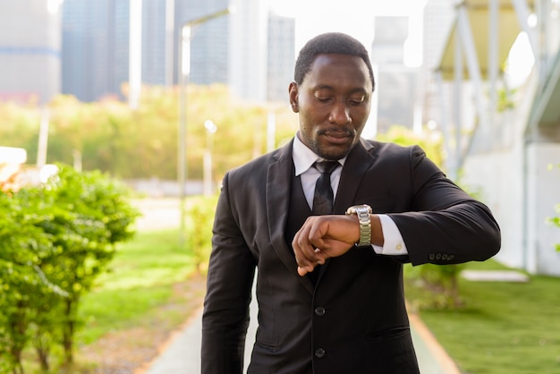
POLYGON ((138 213, 123 184, 100 172, 59 166, 46 184, 0 193, 0 357, 23 372, 21 353, 30 343, 42 370, 55 343, 72 363, 81 296, 105 271, 115 243, 132 238, 138 213))

